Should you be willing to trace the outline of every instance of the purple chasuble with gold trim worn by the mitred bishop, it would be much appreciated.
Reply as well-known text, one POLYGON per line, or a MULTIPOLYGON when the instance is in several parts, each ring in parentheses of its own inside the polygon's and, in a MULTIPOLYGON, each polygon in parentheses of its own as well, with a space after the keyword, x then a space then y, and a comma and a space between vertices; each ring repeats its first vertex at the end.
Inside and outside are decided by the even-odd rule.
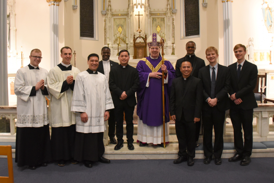
MULTIPOLYGON (((146 59, 155 68, 159 62, 162 65, 162 57, 158 59, 152 59, 146 57, 146 59)), ((172 85, 172 79, 175 78, 175 70, 168 60, 164 61, 164 65, 167 66, 168 71, 168 83, 164 84, 165 91, 165 122, 169 122, 169 96, 172 85)), ((137 115, 148 126, 160 126, 163 125, 163 103, 162 103, 162 78, 149 78, 149 87, 146 87, 149 73, 152 70, 146 64, 145 61, 140 60, 136 69, 139 72, 140 85, 137 90, 137 115)), ((162 72, 161 67, 156 72, 162 72)), ((163 76, 162 76, 163 77, 163 76)))

